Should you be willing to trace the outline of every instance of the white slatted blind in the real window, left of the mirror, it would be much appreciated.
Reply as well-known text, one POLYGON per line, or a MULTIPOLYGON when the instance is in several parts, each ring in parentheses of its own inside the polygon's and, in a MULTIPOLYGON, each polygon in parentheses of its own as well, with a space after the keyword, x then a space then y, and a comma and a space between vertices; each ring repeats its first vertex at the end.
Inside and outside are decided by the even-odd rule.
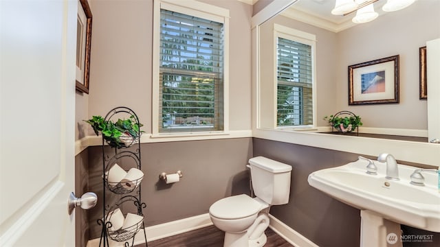
POLYGON ((161 10, 159 132, 223 130, 223 23, 161 10))

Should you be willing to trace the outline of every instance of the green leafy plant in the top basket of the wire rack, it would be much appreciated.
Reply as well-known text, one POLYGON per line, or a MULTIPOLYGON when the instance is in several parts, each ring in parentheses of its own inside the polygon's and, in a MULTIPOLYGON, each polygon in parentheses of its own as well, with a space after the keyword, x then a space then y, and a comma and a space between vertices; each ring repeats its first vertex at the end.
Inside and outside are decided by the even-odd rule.
POLYGON ((102 133, 104 140, 112 148, 126 148, 139 141, 143 131, 140 130, 142 124, 137 124, 135 117, 131 115, 129 119, 118 119, 114 122, 105 120, 101 116, 93 116, 89 120, 84 120, 94 129, 96 135, 102 133))

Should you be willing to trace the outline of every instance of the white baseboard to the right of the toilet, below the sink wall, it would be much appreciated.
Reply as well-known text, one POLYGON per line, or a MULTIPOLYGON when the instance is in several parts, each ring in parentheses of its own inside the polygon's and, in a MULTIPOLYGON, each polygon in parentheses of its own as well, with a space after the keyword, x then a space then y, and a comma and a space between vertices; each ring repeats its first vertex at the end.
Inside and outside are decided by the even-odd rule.
POLYGON ((294 229, 287 226, 276 217, 269 215, 270 224, 269 227, 280 237, 283 237, 289 244, 295 247, 319 247, 314 242, 311 242, 307 237, 304 237, 294 229))

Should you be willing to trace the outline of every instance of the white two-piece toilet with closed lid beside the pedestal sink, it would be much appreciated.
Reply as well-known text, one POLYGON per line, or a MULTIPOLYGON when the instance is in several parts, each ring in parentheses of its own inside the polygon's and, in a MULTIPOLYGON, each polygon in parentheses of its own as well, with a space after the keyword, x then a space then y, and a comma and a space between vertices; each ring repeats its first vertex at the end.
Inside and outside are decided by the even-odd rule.
POLYGON ((249 165, 256 198, 230 196, 209 208, 214 226, 225 231, 225 247, 263 246, 270 206, 289 202, 292 166, 263 156, 250 158, 249 165))

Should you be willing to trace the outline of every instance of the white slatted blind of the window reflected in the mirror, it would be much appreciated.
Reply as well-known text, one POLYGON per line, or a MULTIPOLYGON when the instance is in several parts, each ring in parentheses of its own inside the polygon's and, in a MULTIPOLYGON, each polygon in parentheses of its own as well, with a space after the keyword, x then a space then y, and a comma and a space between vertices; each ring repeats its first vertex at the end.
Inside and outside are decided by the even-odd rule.
POLYGON ((277 126, 313 124, 311 45, 278 37, 277 126))

